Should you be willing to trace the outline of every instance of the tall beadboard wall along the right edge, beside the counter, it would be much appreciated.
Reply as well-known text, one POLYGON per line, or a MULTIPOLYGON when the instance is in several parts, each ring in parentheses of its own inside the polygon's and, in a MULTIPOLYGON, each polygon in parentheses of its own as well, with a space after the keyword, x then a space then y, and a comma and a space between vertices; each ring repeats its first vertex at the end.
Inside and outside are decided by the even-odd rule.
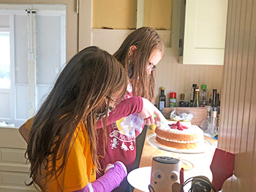
POLYGON ((230 0, 218 147, 235 153, 223 191, 256 191, 256 0, 230 0))

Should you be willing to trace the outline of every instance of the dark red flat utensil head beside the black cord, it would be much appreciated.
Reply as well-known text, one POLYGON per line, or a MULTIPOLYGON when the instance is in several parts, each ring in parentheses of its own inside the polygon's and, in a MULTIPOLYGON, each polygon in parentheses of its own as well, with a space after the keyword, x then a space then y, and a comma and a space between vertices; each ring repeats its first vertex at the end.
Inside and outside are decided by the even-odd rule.
POLYGON ((213 175, 212 185, 217 191, 222 189, 222 185, 234 173, 235 155, 225 150, 216 149, 214 158, 211 161, 211 172, 213 175))

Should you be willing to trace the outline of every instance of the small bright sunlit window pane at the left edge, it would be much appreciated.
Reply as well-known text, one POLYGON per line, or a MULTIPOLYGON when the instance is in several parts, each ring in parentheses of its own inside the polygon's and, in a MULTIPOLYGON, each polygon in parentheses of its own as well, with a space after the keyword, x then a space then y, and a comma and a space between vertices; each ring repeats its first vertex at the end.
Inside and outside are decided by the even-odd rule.
POLYGON ((0 88, 10 87, 10 32, 0 31, 0 88))

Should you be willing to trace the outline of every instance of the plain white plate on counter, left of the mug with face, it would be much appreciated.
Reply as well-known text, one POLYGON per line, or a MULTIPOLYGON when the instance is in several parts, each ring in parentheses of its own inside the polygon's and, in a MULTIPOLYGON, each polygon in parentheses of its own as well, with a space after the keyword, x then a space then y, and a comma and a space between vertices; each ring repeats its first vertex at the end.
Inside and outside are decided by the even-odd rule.
POLYGON ((148 192, 148 185, 150 184, 151 166, 144 166, 132 170, 127 175, 127 180, 132 187, 140 191, 148 192))

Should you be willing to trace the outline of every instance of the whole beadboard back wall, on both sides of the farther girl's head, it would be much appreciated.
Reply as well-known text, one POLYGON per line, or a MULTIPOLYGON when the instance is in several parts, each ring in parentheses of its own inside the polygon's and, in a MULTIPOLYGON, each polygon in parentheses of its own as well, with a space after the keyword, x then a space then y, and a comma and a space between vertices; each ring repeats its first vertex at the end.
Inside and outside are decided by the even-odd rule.
MULTIPOLYGON (((132 30, 108 30, 108 29, 92 29, 92 45, 96 45, 103 50, 107 50, 113 54, 118 50, 121 43, 132 30)), ((170 37, 170 31, 158 31, 163 41, 167 44, 170 37)), ((177 102, 180 100, 180 94, 185 94, 185 100, 189 101, 189 93, 192 91, 192 84, 206 84, 209 93, 213 88, 221 92, 222 66, 212 65, 184 65, 178 64, 176 56, 165 55, 159 62, 156 69, 156 99, 158 104, 158 96, 160 88, 165 87, 167 97, 167 107, 170 98, 170 92, 176 92, 177 102)), ((220 93, 220 96, 222 94, 220 93)))

